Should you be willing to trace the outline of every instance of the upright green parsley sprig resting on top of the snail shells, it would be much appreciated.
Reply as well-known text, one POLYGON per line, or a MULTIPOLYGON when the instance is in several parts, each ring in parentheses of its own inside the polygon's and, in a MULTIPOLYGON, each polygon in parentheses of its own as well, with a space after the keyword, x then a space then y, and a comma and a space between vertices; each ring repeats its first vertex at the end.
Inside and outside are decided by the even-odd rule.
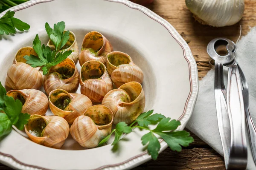
POLYGON ((52 66, 59 64, 72 53, 71 50, 65 52, 59 51, 69 39, 69 31, 64 33, 65 23, 63 21, 54 24, 54 29, 50 28, 49 24, 46 23, 45 29, 55 46, 55 50, 52 50, 49 46, 45 46, 44 44, 42 45, 37 34, 33 41, 33 48, 36 54, 38 54, 38 57, 34 55, 26 55, 23 57, 27 60, 26 63, 32 67, 42 67, 44 75, 48 73, 52 66))

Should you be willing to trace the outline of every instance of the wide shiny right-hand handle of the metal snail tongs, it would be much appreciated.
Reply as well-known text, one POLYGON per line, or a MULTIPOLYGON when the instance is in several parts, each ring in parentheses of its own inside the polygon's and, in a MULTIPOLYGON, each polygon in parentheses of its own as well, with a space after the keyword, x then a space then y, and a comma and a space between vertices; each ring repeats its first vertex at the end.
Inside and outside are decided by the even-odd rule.
POLYGON ((239 69, 236 65, 231 65, 228 69, 227 110, 231 130, 230 159, 227 169, 245 169, 247 165, 247 143, 244 100, 239 69))

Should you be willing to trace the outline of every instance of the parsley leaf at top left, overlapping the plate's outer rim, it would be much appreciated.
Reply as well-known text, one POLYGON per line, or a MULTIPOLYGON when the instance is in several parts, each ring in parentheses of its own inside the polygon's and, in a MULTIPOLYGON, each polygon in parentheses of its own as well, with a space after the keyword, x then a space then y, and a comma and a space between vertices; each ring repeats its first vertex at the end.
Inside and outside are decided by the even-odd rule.
POLYGON ((15 34, 17 32, 16 29, 19 31, 29 30, 30 26, 15 18, 14 14, 14 11, 7 11, 6 14, 0 18, 0 35, 15 34))

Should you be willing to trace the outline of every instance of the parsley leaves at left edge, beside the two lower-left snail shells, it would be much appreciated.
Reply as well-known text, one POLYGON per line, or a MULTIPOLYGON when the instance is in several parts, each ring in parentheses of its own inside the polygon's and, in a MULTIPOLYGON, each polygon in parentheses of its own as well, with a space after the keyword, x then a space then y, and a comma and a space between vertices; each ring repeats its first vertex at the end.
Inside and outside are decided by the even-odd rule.
POLYGON ((12 131, 12 125, 19 130, 24 129, 30 115, 21 113, 22 103, 19 99, 14 99, 6 95, 6 89, 0 82, 0 138, 8 135, 12 131))

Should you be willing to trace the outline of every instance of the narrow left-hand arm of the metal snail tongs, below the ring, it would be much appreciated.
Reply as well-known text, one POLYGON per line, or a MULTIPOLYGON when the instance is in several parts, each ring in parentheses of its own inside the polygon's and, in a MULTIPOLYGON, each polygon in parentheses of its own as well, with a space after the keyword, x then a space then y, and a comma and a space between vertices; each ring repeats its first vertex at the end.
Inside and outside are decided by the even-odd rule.
POLYGON ((224 160, 226 169, 228 167, 229 160, 229 148, 230 136, 229 127, 229 117, 227 114, 227 102, 226 102, 226 89, 224 86, 223 79, 223 65, 220 63, 215 63, 215 82, 214 82, 214 93, 215 93, 215 104, 218 120, 218 130, 221 137, 221 144, 224 153, 224 160))

